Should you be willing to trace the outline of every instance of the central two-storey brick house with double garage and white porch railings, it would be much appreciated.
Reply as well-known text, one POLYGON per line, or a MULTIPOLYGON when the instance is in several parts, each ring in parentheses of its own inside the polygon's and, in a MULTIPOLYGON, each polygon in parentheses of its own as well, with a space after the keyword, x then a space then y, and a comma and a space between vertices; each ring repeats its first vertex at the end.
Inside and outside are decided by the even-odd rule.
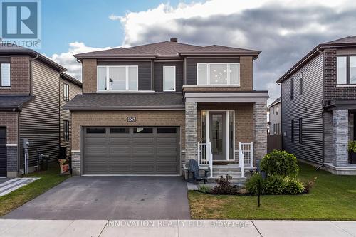
POLYGON ((172 38, 75 55, 83 95, 66 105, 73 174, 179 175, 189 159, 209 162, 209 147, 198 146, 206 141, 216 164, 237 161, 239 142, 253 142, 261 159, 268 93, 253 90, 259 53, 172 38))

